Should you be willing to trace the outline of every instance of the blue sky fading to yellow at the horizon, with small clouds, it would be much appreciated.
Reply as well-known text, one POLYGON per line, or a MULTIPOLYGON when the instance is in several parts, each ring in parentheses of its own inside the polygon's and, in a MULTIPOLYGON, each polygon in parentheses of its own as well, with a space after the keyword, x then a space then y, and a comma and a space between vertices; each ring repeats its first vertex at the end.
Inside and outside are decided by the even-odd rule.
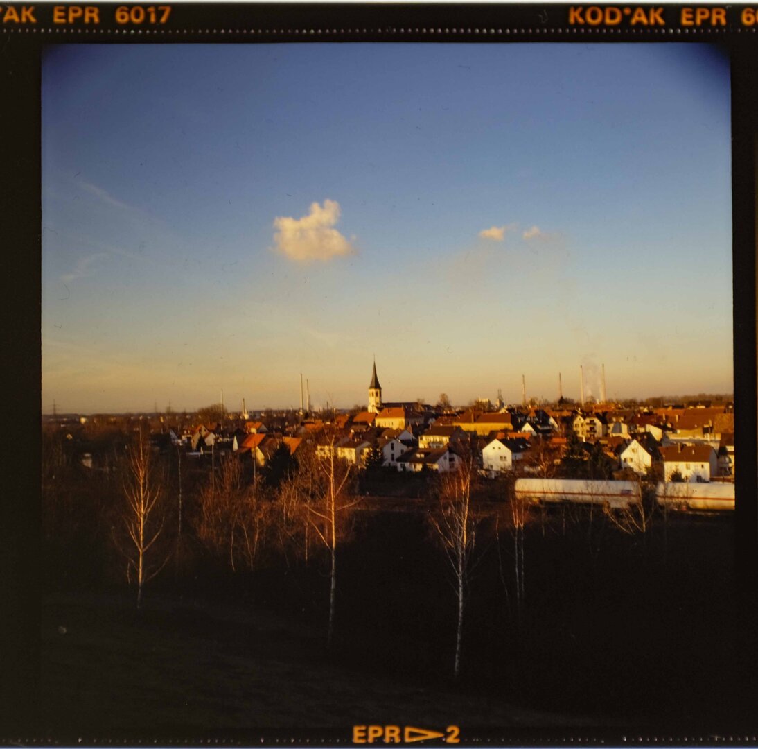
POLYGON ((52 47, 42 410, 731 392, 729 106, 691 44, 52 47))

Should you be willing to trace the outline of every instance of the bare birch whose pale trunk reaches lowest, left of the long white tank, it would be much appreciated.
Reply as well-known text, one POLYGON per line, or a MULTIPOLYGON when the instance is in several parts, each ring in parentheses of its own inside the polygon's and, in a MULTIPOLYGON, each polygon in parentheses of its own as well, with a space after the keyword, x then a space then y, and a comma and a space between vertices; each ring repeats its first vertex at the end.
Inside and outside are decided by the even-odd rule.
POLYGON ((439 508, 430 516, 431 527, 440 541, 453 572, 453 589, 458 599, 458 625, 453 675, 458 678, 461 668, 463 612, 468 596, 468 577, 471 573, 476 524, 471 512, 471 481, 476 475, 473 461, 462 461, 458 470, 440 477, 439 508))

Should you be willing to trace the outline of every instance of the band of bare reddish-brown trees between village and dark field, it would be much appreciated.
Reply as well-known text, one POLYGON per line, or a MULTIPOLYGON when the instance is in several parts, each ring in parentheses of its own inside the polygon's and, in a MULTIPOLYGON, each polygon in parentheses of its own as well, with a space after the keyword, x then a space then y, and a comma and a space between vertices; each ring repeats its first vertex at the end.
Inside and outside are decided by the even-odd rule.
MULTIPOLYGON (((399 478, 396 472, 374 466, 359 476, 355 467, 334 457, 334 450, 331 458, 318 458, 308 440, 295 456, 283 448, 266 467, 258 467, 249 454, 208 460, 190 458, 180 447, 161 450, 139 425, 130 431, 93 431, 88 437, 87 449, 108 458, 96 461, 96 468, 82 464, 65 433, 43 432, 43 537, 51 587, 129 585, 139 607, 152 586, 158 595, 158 588, 180 587, 209 568, 223 577, 315 566, 327 581, 324 634, 327 642, 333 639, 340 554, 362 541, 362 518, 368 514, 364 496, 371 484, 399 478)), ((330 438, 334 442, 336 433, 330 438)), ((535 467, 542 461, 543 472, 550 473, 554 455, 537 455, 535 467)), ((577 461, 577 470, 603 474, 600 453, 594 456, 597 463, 592 456, 572 455, 570 450, 568 459, 577 461)), ((418 478, 424 496, 409 505, 424 515, 427 530, 420 541, 436 549, 452 586, 456 676, 471 581, 483 560, 496 563, 502 589, 494 593, 505 596, 509 617, 518 626, 530 586, 529 527, 543 537, 581 527, 587 551, 597 556, 609 533, 634 543, 642 539, 654 511, 648 496, 629 511, 594 508, 587 515, 562 508, 556 524, 546 510, 534 511, 515 499, 514 477, 483 483, 471 456, 451 474, 402 478, 418 478)), ((453 626, 452 616, 448 624, 453 626)))

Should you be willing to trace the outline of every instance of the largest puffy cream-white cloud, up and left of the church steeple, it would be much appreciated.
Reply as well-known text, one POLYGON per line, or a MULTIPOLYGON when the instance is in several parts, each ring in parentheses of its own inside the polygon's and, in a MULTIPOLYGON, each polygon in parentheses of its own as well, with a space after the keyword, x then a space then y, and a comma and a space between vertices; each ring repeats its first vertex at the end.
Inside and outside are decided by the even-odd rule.
POLYGON ((352 241, 340 234, 334 225, 340 220, 340 203, 324 200, 324 206, 311 203, 308 216, 274 219, 276 249, 296 263, 326 262, 333 257, 354 253, 352 241))

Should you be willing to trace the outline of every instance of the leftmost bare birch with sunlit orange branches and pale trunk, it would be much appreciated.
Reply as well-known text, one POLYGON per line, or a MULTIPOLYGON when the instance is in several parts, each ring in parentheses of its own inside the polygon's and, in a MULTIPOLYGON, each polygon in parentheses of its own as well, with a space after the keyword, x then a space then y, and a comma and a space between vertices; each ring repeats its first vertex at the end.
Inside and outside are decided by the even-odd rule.
POLYGON ((132 574, 136 580, 138 609, 142 606, 143 587, 164 568, 170 556, 156 546, 165 520, 163 483, 152 461, 149 440, 140 429, 136 442, 127 450, 123 479, 125 502, 121 521, 127 542, 121 544, 116 540, 127 558, 127 580, 132 574))

